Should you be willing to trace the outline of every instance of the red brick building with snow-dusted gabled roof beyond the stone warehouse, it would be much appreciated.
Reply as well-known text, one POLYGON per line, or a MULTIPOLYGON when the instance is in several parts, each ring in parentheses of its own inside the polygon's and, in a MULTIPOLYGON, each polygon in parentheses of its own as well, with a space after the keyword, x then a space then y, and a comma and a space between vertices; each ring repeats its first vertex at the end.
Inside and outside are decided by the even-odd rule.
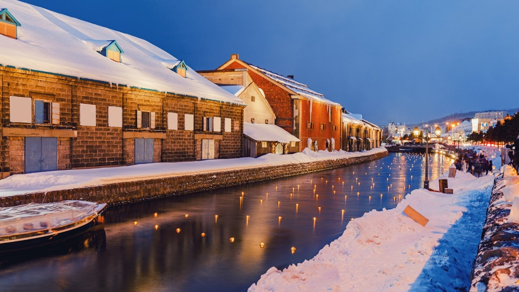
POLYGON ((263 90, 265 98, 276 114, 276 125, 299 138, 301 150, 318 142, 319 150, 340 148, 342 106, 295 81, 293 76, 280 74, 257 67, 233 54, 230 60, 217 68, 247 69, 254 83, 263 90))

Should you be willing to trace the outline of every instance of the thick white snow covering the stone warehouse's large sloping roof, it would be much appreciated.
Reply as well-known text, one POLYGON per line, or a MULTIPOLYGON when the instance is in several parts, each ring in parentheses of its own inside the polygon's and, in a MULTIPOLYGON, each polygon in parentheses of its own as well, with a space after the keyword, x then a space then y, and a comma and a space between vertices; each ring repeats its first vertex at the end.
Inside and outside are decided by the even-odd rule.
POLYGON ((180 60, 144 39, 15 0, 0 0, 0 7, 23 25, 18 39, 2 37, 0 65, 244 104, 195 70, 185 78, 171 71, 180 60), (110 45, 100 40, 117 41, 120 63, 99 54, 110 45))

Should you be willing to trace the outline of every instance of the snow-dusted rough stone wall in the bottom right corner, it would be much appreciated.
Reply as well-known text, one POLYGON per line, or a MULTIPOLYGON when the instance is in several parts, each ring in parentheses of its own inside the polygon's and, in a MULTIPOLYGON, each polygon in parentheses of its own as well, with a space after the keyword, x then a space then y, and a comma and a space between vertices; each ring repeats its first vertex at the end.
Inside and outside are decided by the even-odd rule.
POLYGON ((502 175, 494 181, 472 268, 471 291, 519 290, 519 223, 508 222, 512 202, 503 198, 504 181, 502 175))

